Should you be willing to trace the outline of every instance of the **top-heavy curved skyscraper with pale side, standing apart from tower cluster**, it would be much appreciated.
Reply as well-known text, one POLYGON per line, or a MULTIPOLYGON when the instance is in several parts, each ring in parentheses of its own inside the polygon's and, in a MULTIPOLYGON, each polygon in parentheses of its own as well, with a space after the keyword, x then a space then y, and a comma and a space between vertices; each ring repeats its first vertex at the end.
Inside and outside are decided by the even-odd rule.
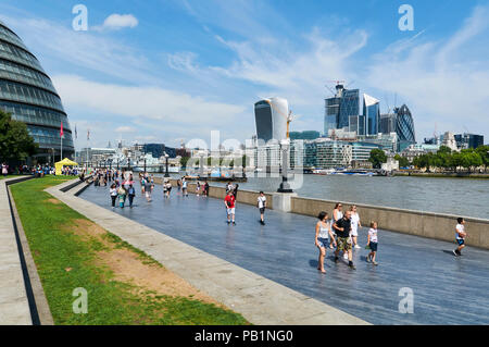
POLYGON ((286 99, 271 98, 260 100, 254 104, 256 137, 265 142, 283 140, 287 137, 287 117, 289 104, 286 99))

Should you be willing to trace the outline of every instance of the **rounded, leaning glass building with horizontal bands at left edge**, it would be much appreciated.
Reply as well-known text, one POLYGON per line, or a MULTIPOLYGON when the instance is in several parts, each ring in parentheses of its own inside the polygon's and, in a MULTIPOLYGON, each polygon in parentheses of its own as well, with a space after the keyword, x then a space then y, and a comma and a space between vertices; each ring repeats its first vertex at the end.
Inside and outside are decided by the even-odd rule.
POLYGON ((40 162, 60 158, 60 127, 63 123, 63 157, 75 148, 72 131, 51 79, 21 38, 0 21, 0 109, 26 123, 39 144, 40 162), (54 154, 54 157, 52 157, 54 154))

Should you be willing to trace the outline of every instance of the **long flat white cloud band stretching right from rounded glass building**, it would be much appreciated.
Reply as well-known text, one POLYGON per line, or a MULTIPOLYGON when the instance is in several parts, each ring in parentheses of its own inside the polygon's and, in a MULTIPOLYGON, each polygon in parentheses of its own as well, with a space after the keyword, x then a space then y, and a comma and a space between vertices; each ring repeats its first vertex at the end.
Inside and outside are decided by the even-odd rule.
POLYGON ((208 101, 159 87, 133 87, 102 84, 75 75, 59 75, 53 83, 65 104, 87 110, 123 115, 136 120, 161 121, 185 125, 218 125, 234 120, 244 108, 208 101))

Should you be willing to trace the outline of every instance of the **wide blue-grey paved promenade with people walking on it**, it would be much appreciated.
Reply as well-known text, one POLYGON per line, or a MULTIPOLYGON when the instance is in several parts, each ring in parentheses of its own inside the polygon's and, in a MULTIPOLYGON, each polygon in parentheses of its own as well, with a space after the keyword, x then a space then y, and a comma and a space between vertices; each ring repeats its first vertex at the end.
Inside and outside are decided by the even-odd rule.
MULTIPOLYGON (((80 197, 112 211, 105 187, 89 187, 80 197)), ((363 248, 354 251, 356 271, 343 261, 335 264, 328 251, 323 275, 316 270, 314 218, 268 210, 262 226, 256 208, 238 203, 237 225, 228 226, 223 201, 183 198, 175 188, 164 200, 160 186, 151 203, 140 195, 135 201, 133 209, 114 211, 367 322, 489 323, 489 251, 469 247, 454 258, 452 243, 379 231, 378 267, 365 262, 363 248), (399 312, 404 287, 414 293, 414 313, 399 312)), ((366 228, 360 243, 366 244, 366 228)))

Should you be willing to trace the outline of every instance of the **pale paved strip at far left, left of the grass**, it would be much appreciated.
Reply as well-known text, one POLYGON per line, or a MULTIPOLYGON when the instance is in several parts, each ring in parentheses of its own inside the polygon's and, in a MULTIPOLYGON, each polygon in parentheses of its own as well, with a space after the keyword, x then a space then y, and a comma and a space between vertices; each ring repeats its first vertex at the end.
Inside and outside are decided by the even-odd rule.
POLYGON ((33 324, 7 190, 18 178, 0 179, 0 325, 33 324))

